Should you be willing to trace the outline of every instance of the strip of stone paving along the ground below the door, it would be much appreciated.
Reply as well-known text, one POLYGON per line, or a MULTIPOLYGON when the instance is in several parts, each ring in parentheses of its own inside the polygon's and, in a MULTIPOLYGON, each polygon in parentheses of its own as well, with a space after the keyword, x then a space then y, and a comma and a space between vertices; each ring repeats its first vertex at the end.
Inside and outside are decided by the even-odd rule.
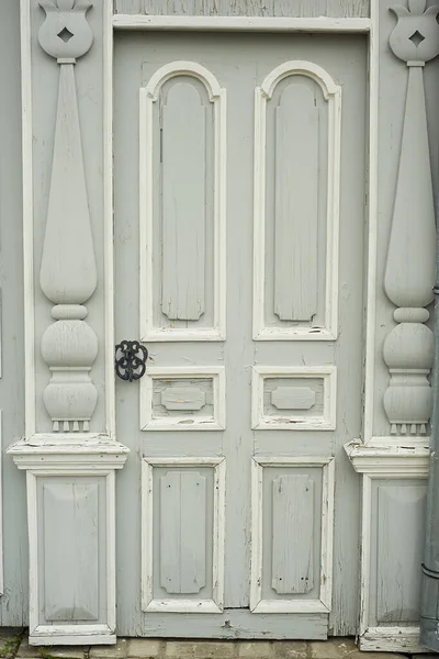
MULTIPOLYGON (((0 628, 4 659, 406 659, 409 655, 360 652, 352 638, 326 641, 162 640, 120 638, 114 646, 31 647, 25 629, 0 628)), ((434 659, 439 655, 416 655, 434 659)))

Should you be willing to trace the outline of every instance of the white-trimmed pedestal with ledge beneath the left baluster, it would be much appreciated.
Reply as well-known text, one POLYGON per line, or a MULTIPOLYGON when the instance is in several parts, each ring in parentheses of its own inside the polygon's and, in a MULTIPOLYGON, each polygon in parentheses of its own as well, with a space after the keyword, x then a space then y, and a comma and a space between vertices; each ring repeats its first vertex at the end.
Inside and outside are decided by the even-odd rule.
POLYGON ((115 471, 128 448, 50 442, 8 449, 26 471, 29 643, 114 644, 115 471))

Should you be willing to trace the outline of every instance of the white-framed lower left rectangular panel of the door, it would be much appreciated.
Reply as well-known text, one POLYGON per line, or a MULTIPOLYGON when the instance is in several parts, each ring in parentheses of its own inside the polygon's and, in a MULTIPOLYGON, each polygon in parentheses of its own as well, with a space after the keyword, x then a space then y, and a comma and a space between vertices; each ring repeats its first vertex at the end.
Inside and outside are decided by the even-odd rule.
POLYGON ((143 611, 219 613, 224 591, 224 458, 145 458, 143 611))

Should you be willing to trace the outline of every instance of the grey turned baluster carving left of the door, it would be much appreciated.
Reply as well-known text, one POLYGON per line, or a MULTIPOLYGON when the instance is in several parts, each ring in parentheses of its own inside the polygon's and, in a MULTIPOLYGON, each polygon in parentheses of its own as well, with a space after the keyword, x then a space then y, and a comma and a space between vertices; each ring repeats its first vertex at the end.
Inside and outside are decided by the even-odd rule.
POLYGON ((98 391, 90 370, 98 338, 85 321, 83 303, 97 287, 97 267, 83 169, 75 81, 76 59, 91 47, 87 23, 89 0, 41 0, 46 19, 40 30, 42 48, 59 65, 55 145, 40 282, 54 303, 42 338, 42 354, 52 378, 44 403, 54 432, 88 431, 98 391))

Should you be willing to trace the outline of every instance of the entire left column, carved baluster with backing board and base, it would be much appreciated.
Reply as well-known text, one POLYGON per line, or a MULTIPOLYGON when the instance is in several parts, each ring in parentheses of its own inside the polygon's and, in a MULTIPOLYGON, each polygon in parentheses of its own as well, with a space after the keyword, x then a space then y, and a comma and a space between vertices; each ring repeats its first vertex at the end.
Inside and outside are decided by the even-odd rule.
MULTIPOLYGON (((98 322, 104 320, 105 337, 112 336, 111 317, 102 317, 104 303, 111 305, 108 282, 100 281, 97 290, 92 227, 97 236, 110 232, 108 225, 102 227, 105 222, 102 214, 91 215, 89 210, 89 196, 90 199, 103 197, 103 191, 97 189, 100 179, 94 179, 98 182, 87 190, 75 75, 79 57, 92 47, 103 48, 102 40, 93 45, 88 12, 95 12, 94 24, 104 26, 104 20, 109 21, 109 0, 94 1, 95 7, 90 0, 40 0, 45 14, 35 11, 38 0, 21 3, 25 27, 23 68, 27 67, 29 76, 37 82, 40 71, 45 74, 50 66, 59 71, 58 93, 52 86, 42 92, 35 85, 34 104, 27 105, 27 115, 23 119, 27 121, 26 135, 35 136, 35 144, 40 139, 41 147, 44 142, 41 135, 47 134, 47 126, 41 125, 44 110, 47 103, 54 108, 57 103, 53 156, 45 148, 38 152, 32 139, 25 142, 34 174, 24 179, 30 206, 23 222, 24 254, 31 255, 31 260, 35 247, 40 247, 34 242, 37 241, 34 222, 44 224, 40 286, 53 305, 54 322, 47 326, 46 321, 42 321, 47 317, 48 305, 41 294, 35 294, 37 286, 33 280, 34 269, 30 267, 25 299, 32 300, 27 306, 32 349, 27 349, 26 355, 26 378, 34 380, 35 387, 26 391, 26 436, 8 449, 18 468, 26 471, 31 645, 94 645, 116 640, 115 471, 124 466, 128 449, 114 438, 113 405, 108 391, 105 422, 94 420, 94 427, 90 428, 98 389, 101 392, 103 384, 108 387, 113 376, 110 362, 110 378, 108 372, 104 381, 98 376, 97 386, 91 378, 98 347, 104 350, 104 342, 98 346, 98 336, 86 321, 87 303, 93 294, 99 295, 94 306, 98 322), (35 44, 36 32, 40 46, 54 59, 47 58, 35 44), (36 51, 37 55, 33 55, 36 51), (35 158, 36 153, 40 158, 35 158), (46 188, 42 170, 50 156, 50 181, 46 188), (43 165, 42 159, 45 159, 43 165), (33 205, 35 197, 40 203, 33 205), (48 199, 47 215, 40 217, 37 213, 44 209, 41 200, 45 198, 48 199), (38 306, 41 313, 35 314, 38 306), (52 373, 47 383, 43 379, 44 370, 43 378, 35 379, 34 351, 40 349, 40 336, 42 356, 52 373), (43 401, 52 421, 50 432, 46 432, 43 401)), ((97 80, 98 87, 92 89, 97 103, 100 102, 100 81, 94 71, 101 66, 100 55, 102 52, 90 52, 85 60, 85 66, 90 66, 86 79, 97 80)), ((26 81, 24 75, 23 80, 26 81)), ((100 121, 99 109, 89 107, 88 112, 90 119, 100 121)), ((103 118, 101 121, 104 134, 108 129, 104 130, 103 118)), ((100 144, 99 136, 95 144, 100 144)), ((105 161, 104 153, 94 153, 93 159, 90 150, 86 155, 90 170, 105 161)), ((97 252, 102 254, 102 249, 97 252)), ((104 253, 106 263, 111 261, 106 244, 104 253)))

